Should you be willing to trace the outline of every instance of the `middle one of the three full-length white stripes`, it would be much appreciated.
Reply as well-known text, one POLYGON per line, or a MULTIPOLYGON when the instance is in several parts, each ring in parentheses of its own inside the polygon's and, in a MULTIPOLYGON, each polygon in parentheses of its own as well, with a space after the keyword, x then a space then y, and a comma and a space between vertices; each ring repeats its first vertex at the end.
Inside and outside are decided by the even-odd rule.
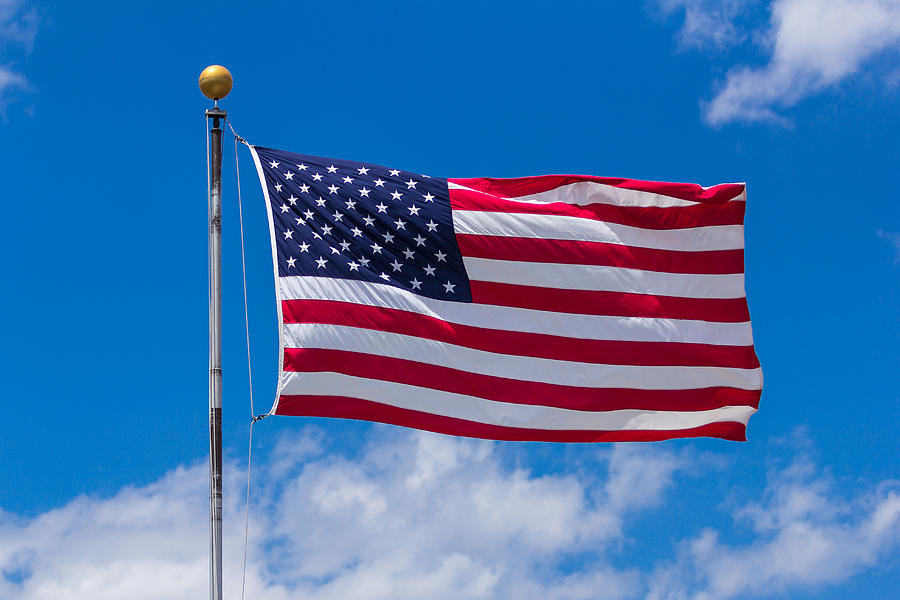
MULTIPOLYGON (((285 324, 284 338, 288 348, 362 352, 492 377, 554 385, 639 390, 687 390, 708 387, 762 389, 760 369, 601 365, 514 356, 412 335, 322 323, 285 324)), ((385 373, 384 378, 390 379, 390 374, 385 373)))

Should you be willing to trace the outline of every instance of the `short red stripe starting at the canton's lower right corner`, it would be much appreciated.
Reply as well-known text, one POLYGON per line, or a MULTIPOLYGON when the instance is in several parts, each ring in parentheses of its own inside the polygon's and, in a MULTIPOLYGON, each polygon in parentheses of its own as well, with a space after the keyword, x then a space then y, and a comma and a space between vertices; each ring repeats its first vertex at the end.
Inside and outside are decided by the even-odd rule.
POLYGON ((472 300, 552 312, 616 317, 692 319, 719 323, 750 320, 746 298, 678 298, 623 292, 559 290, 511 283, 470 281, 472 300))

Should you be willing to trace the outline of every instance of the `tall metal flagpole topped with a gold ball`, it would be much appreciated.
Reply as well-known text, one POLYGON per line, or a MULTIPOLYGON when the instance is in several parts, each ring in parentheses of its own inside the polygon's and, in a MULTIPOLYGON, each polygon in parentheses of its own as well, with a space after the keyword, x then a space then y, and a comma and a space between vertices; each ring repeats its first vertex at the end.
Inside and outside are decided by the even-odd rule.
MULTIPOLYGON (((222 600, 222 128, 219 100, 231 91, 228 69, 200 74, 200 91, 213 100, 209 129, 209 597, 222 600)), ((207 125, 208 127, 208 125, 207 125)))

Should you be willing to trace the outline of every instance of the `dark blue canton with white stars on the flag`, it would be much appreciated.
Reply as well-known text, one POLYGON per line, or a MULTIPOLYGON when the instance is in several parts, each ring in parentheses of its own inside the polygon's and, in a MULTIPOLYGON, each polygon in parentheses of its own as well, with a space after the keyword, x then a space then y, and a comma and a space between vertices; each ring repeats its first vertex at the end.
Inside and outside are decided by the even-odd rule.
POLYGON ((281 277, 355 279, 472 301, 446 179, 255 149, 281 277))

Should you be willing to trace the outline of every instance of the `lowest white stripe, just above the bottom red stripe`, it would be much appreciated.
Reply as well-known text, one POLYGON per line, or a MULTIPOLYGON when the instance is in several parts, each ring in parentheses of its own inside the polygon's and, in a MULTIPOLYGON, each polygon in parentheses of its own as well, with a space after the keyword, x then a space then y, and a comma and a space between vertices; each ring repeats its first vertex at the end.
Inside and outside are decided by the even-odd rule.
POLYGON ((284 373, 281 385, 285 395, 347 396, 488 425, 554 431, 665 431, 692 429, 723 421, 746 425, 756 412, 751 406, 725 406, 689 412, 633 409, 589 412, 494 402, 340 373, 284 373))

